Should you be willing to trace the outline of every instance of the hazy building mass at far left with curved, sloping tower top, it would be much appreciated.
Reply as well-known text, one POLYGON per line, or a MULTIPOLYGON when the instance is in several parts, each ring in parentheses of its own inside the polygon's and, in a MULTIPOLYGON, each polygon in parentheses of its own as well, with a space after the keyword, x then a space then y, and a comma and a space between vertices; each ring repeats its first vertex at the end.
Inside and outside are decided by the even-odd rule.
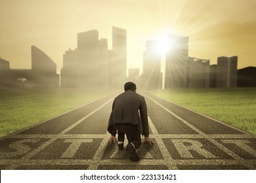
POLYGON ((0 58, 0 88, 48 88, 59 86, 56 63, 39 50, 31 47, 32 69, 10 69, 9 61, 0 58))

